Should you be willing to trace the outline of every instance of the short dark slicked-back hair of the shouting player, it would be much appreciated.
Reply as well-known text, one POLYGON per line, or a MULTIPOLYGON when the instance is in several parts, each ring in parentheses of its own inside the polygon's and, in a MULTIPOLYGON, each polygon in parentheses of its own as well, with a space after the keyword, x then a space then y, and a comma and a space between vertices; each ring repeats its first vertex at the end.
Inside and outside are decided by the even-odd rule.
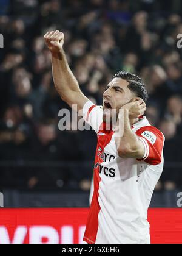
POLYGON ((140 97, 144 102, 147 102, 147 99, 149 98, 147 88, 140 77, 126 71, 120 71, 116 73, 112 78, 116 77, 127 80, 127 82, 129 82, 128 88, 133 91, 137 97, 140 97))

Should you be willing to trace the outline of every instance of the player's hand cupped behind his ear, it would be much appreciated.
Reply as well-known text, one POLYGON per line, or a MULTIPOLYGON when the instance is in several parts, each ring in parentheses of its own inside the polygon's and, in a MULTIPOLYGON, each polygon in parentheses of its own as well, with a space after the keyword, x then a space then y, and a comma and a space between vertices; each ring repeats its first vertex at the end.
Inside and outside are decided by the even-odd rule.
POLYGON ((139 118, 139 116, 143 116, 146 111, 146 104, 141 98, 132 99, 129 103, 123 105, 122 108, 129 110, 130 119, 139 118))

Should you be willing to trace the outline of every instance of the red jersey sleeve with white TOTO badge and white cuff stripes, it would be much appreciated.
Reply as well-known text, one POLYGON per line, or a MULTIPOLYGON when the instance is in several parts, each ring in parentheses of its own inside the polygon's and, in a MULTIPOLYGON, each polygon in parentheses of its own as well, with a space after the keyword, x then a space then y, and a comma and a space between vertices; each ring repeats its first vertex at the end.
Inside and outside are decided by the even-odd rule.
POLYGON ((150 165, 161 163, 164 147, 164 135, 153 126, 144 126, 136 131, 136 135, 144 145, 144 156, 138 161, 144 160, 150 165))

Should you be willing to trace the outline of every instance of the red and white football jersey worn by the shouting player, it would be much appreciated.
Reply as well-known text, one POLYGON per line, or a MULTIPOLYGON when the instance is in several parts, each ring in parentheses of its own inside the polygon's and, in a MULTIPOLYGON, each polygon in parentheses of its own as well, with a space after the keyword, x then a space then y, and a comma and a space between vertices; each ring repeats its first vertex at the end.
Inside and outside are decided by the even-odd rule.
POLYGON ((86 102, 83 118, 98 137, 94 191, 83 240, 91 244, 150 243, 147 209, 163 171, 163 133, 143 116, 132 126, 144 144, 143 159, 121 158, 115 133, 104 129, 103 107, 86 102))

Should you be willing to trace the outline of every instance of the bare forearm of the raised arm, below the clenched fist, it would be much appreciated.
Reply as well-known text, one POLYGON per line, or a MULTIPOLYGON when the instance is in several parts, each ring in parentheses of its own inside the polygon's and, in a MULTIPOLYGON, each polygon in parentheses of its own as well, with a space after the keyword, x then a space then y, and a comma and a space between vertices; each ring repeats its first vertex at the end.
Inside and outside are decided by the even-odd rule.
POLYGON ((63 49, 58 54, 52 54, 52 73, 56 90, 62 99, 69 97, 70 93, 81 93, 63 49))

